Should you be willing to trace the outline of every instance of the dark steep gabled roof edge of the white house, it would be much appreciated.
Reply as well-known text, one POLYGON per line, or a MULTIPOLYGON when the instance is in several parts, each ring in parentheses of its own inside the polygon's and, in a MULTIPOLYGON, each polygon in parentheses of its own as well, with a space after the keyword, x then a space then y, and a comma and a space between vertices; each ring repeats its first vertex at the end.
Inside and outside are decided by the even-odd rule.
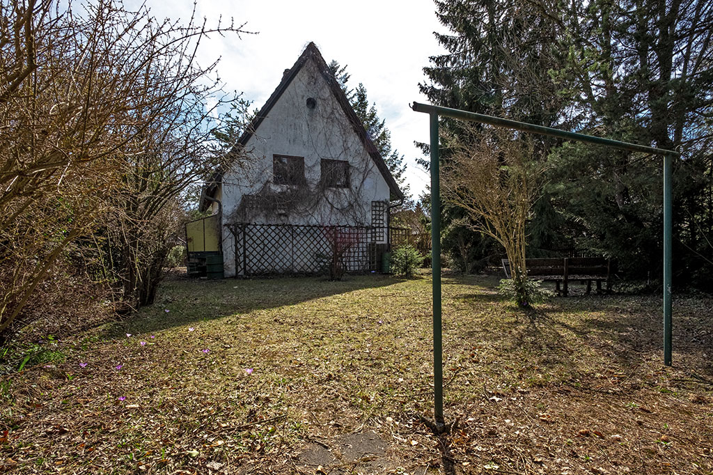
MULTIPOLYGON (((359 139, 361 139, 361 143, 364 144, 364 148, 366 148, 366 151, 369 153, 369 156, 371 156, 371 159, 374 160, 376 168, 379 168, 381 176, 384 177, 384 180, 386 180, 386 184, 389 185, 389 190, 391 190, 391 193, 393 193, 394 196, 396 196, 396 198, 398 199, 404 198, 404 192, 401 191, 401 188, 399 188, 399 185, 396 183, 396 180, 394 180, 394 176, 391 175, 391 171, 389 171, 389 166, 386 165, 386 162, 384 162, 384 158, 381 157, 379 150, 376 150, 374 142, 371 141, 371 138, 369 138, 369 134, 366 133, 366 131, 364 130, 364 124, 359 121, 359 118, 356 116, 352 105, 349 103, 349 99, 344 94, 344 91, 342 91, 342 88, 339 87, 339 83, 337 83, 337 79, 334 78, 332 72, 329 71, 329 66, 327 66, 327 62, 324 61, 322 53, 319 53, 319 49, 317 49, 317 46, 315 46, 313 42, 310 42, 307 45, 307 48, 304 48, 302 54, 299 56, 299 58, 297 58, 297 61, 295 61, 294 66, 292 66, 292 68, 290 68, 289 70, 285 71, 282 76, 282 81, 279 83, 279 86, 277 86, 275 92, 272 93, 272 96, 267 99, 265 106, 262 106, 262 109, 260 109, 260 112, 257 113, 257 116, 255 116, 255 118, 252 119, 247 128, 245 128, 245 132, 242 133, 242 136, 240 136, 240 139, 237 141, 237 144, 235 145, 235 148, 233 148, 232 151, 237 153, 237 150, 240 150, 241 148, 244 148, 245 145, 247 145, 247 141, 249 141, 250 138, 255 134, 255 131, 257 131, 257 128, 260 127, 262 121, 270 113, 272 107, 275 106, 275 103, 277 103, 280 96, 282 96, 282 93, 287 90, 287 86, 292 83, 292 79, 297 76, 299 70, 302 69, 302 66, 304 66, 309 59, 312 59, 312 61, 314 61, 314 64, 317 66, 317 70, 319 71, 319 73, 322 74, 322 78, 324 78, 324 81, 327 82, 329 90, 332 91, 334 98, 337 99, 337 103, 339 103, 339 106, 342 107, 342 111, 344 111, 344 115, 347 116, 349 123, 352 124, 354 132, 357 136, 359 136, 359 139)), ((207 195, 215 195, 217 187, 218 185, 220 185, 220 182, 222 180, 222 173, 223 170, 217 170, 217 172, 211 177, 205 189, 205 193, 207 195)), ((200 210, 205 210, 208 205, 209 203, 207 203, 207 200, 204 200, 204 198, 201 196, 200 210)))

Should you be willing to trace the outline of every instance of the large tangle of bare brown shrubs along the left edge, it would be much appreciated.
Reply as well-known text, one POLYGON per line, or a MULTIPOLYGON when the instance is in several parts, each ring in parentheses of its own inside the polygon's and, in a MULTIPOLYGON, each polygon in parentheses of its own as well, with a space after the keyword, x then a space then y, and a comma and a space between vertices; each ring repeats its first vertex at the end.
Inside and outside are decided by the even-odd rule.
POLYGON ((222 159, 203 142, 215 63, 195 55, 225 32, 240 26, 156 21, 113 0, 1 1, 0 332, 95 233, 123 253, 123 297, 150 302, 166 207, 222 159))

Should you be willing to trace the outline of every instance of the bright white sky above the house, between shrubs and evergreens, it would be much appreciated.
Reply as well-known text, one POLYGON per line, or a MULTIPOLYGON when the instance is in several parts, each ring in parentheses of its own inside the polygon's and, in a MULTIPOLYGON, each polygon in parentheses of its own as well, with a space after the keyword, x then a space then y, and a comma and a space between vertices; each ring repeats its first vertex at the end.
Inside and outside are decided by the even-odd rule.
MULTIPOLYGON (((193 0, 146 0, 157 19, 188 20, 193 0)), ((125 6, 140 3, 125 1, 125 6)), ((262 108, 310 41, 324 60, 347 66, 349 85, 364 83, 369 101, 391 131, 391 145, 404 155, 406 183, 417 198, 429 175, 416 165, 421 150, 414 141, 429 140, 429 117, 411 111, 409 103, 428 102, 419 82, 429 56, 442 53, 434 31, 443 31, 432 0, 197 0, 196 16, 207 25, 245 23, 256 34, 213 35, 201 44, 198 61, 207 65, 220 57, 217 72, 225 90, 239 91, 262 108)), ((251 108, 251 109, 252 109, 251 108)))

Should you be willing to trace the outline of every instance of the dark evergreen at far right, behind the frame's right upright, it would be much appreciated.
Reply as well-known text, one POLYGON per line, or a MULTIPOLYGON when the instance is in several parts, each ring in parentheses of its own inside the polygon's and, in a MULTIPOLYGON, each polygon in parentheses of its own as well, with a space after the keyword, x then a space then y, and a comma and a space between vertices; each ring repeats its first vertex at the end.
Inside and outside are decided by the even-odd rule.
MULTIPOLYGON (((567 8, 560 16, 568 56, 551 76, 576 111, 573 123, 682 150, 674 168, 674 272, 713 282, 713 221, 704 206, 711 193, 705 118, 713 112, 713 5, 597 0, 567 8)), ((660 275, 661 158, 568 144, 552 159, 555 205, 578 241, 617 257, 631 275, 660 275)))

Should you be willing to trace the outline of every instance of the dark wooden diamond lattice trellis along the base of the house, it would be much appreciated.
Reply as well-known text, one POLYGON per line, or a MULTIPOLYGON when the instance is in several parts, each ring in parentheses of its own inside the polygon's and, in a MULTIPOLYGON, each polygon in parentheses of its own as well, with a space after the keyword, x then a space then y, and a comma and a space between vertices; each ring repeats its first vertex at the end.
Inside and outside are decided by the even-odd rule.
POLYGON ((345 272, 381 269, 381 255, 387 249, 379 236, 393 237, 396 246, 407 240, 409 230, 373 226, 316 226, 232 223, 226 225, 235 246, 237 276, 327 272, 338 256, 345 272))

